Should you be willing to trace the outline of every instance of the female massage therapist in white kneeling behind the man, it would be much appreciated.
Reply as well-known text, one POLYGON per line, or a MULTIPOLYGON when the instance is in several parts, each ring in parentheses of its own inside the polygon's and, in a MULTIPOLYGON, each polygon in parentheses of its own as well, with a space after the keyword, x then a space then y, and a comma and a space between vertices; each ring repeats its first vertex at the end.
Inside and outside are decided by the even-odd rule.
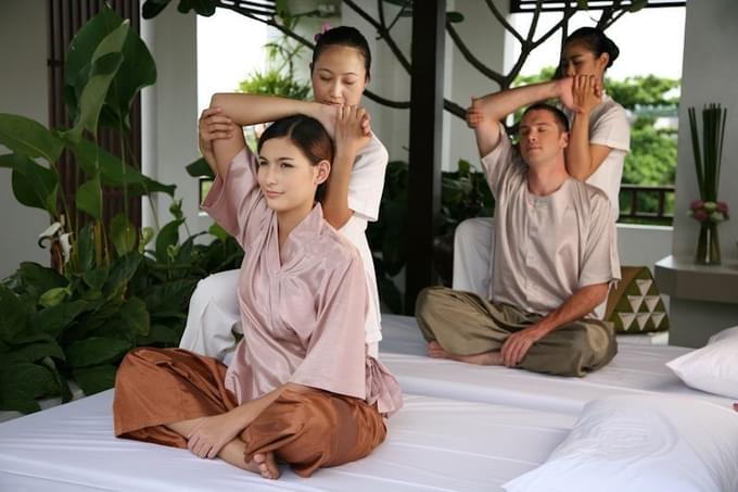
MULTIPOLYGON (((620 181, 631 148, 625 110, 603 90, 605 71, 619 54, 618 46, 602 30, 582 27, 564 42, 560 65, 563 78, 514 89, 521 106, 559 99, 571 126, 567 169, 572 177, 608 194, 613 220, 620 214, 620 181)), ((472 100, 467 112, 471 127, 484 117, 485 103, 485 98, 472 100)), ((454 238, 454 289, 489 297, 493 234, 493 218, 470 218, 459 224, 454 238)))

